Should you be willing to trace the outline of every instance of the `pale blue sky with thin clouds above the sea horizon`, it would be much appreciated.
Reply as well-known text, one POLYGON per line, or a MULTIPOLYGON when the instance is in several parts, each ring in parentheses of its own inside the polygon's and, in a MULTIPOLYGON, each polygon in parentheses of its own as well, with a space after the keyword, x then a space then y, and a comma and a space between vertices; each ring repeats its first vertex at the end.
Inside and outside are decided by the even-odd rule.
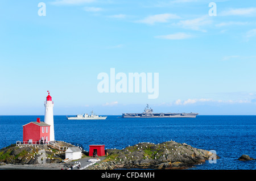
POLYGON ((47 91, 55 115, 256 115, 256 1, 2 0, 0 17, 0 115, 44 115, 47 91), (100 92, 111 69, 158 73, 157 98, 100 92))

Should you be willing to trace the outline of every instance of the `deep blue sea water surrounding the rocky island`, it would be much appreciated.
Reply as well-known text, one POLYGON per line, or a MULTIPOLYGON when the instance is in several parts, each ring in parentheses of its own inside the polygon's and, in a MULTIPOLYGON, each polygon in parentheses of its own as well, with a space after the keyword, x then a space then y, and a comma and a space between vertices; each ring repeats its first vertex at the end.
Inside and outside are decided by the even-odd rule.
MULTIPOLYGON (((0 148, 22 141, 22 125, 44 120, 44 116, 0 116, 0 148)), ((67 120, 54 116, 55 140, 89 145, 104 144, 105 148, 122 149, 138 142, 164 141, 186 143, 195 148, 215 150, 216 163, 197 165, 197 170, 251 170, 256 161, 238 161, 242 154, 256 158, 256 116, 197 116, 195 119, 147 119, 108 116, 106 120, 67 120)))

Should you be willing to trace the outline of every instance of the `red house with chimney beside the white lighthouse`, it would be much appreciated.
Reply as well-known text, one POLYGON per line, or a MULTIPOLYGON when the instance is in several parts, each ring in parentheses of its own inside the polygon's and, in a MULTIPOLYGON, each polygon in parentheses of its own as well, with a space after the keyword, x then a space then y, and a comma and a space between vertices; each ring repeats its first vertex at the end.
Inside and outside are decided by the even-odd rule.
POLYGON ((40 118, 22 127, 24 144, 42 144, 44 141, 49 141, 50 125, 41 122, 40 118))

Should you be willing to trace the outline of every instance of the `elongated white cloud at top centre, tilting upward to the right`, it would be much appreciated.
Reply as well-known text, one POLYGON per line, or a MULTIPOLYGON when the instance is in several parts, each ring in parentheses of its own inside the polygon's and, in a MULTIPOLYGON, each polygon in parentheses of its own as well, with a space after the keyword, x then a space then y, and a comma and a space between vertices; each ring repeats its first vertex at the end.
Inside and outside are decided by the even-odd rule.
POLYGON ((170 19, 180 19, 180 16, 177 16, 176 14, 157 14, 157 15, 151 15, 147 16, 146 18, 142 20, 138 20, 138 23, 145 23, 145 24, 155 24, 155 23, 166 23, 170 19))

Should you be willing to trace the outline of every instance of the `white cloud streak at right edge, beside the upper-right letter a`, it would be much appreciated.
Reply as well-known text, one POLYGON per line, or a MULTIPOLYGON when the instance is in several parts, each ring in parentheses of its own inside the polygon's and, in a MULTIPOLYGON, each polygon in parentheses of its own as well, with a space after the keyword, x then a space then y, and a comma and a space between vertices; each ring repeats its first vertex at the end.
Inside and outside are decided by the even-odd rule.
POLYGON ((221 16, 251 16, 256 15, 256 8, 240 8, 240 9, 229 9, 226 11, 222 11, 220 13, 221 16))

